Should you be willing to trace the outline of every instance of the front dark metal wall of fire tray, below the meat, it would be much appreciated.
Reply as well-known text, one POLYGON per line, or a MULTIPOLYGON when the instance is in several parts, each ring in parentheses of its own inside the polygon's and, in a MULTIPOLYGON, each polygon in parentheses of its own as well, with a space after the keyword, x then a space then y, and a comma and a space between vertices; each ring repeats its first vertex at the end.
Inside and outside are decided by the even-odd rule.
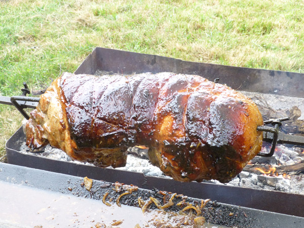
POLYGON ((172 179, 144 176, 142 173, 137 172, 104 169, 56 161, 21 154, 18 150, 24 141, 25 135, 22 128, 15 132, 7 141, 6 151, 9 164, 73 176, 89 176, 96 180, 105 180, 108 182, 119 181, 146 189, 157 188, 161 191, 176 192, 198 199, 210 198, 220 203, 304 217, 304 211, 299 210, 299 208, 304 205, 304 195, 204 182, 182 183, 172 179))

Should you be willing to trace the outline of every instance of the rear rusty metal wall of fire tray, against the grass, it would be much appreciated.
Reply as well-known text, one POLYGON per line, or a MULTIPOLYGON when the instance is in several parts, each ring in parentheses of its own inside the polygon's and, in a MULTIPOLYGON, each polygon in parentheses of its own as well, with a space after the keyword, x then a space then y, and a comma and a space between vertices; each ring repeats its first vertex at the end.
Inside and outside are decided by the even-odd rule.
POLYGON ((131 74, 173 72, 219 79, 235 90, 304 98, 304 73, 189 62, 158 55, 95 48, 75 70, 76 74, 95 74, 97 70, 131 74))

